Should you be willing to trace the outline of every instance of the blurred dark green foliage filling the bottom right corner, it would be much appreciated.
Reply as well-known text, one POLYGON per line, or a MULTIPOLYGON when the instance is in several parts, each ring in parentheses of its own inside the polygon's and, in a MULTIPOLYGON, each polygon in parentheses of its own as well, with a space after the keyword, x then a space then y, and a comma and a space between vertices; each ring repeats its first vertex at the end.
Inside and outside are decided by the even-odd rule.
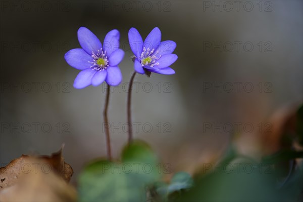
POLYGON ((198 173, 194 186, 174 201, 301 201, 303 164, 294 169, 297 157, 301 151, 283 150, 258 163, 231 144, 220 163, 198 173))

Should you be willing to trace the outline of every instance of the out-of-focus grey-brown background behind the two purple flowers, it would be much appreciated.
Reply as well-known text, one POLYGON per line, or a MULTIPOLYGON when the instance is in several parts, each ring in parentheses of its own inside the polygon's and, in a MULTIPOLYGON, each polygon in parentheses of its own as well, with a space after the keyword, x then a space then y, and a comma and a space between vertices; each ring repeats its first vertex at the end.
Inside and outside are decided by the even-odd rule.
POLYGON ((234 134, 258 156, 268 117, 303 99, 302 1, 1 1, 0 16, 1 166, 65 143, 75 183, 86 163, 106 156, 106 85, 74 89, 79 70, 64 60, 80 48, 81 26, 101 42, 112 29, 121 34, 123 82, 109 109, 116 158, 127 141, 131 27, 143 39, 159 27, 162 41, 177 43, 176 74, 137 74, 132 95, 135 138, 172 172, 218 158, 234 134))

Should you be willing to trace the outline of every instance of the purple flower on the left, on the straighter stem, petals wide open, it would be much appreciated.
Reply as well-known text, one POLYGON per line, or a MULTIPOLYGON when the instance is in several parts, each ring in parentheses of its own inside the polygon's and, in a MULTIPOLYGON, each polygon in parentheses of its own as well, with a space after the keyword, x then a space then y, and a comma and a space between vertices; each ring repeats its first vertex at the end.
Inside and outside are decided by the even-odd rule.
POLYGON ((74 88, 83 89, 89 85, 98 86, 104 81, 111 86, 118 86, 122 73, 118 64, 124 57, 119 49, 120 33, 114 29, 107 33, 103 48, 99 39, 89 29, 78 29, 78 41, 82 49, 68 51, 64 58, 72 67, 82 70, 74 81, 74 88))

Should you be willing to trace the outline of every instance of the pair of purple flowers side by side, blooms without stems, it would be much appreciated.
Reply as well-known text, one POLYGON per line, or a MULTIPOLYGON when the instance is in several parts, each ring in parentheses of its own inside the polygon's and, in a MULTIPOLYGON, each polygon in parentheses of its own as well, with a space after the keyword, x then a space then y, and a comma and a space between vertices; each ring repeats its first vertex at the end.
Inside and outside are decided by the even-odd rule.
MULTIPOLYGON (((173 41, 161 42, 161 31, 154 28, 144 43, 135 28, 128 33, 129 44, 135 54, 134 69, 144 74, 144 69, 160 74, 174 74, 169 66, 177 60, 172 54, 176 48, 173 41)), ((123 60, 124 51, 119 49, 120 33, 114 29, 107 33, 104 43, 89 29, 80 27, 78 41, 82 49, 72 49, 65 54, 66 62, 79 70, 74 81, 74 88, 82 89, 89 85, 98 86, 104 81, 110 86, 118 86, 122 81, 122 73, 118 67, 123 60)))

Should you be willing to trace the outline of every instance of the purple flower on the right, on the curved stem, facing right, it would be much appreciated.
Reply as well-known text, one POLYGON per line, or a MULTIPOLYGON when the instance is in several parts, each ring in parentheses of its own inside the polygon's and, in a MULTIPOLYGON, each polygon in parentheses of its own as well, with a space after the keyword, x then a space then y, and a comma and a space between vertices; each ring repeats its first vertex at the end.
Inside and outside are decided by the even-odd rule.
POLYGON ((161 42, 161 31, 158 27, 151 30, 144 43, 135 28, 129 30, 128 39, 130 48, 135 54, 134 69, 136 72, 144 74, 144 69, 146 69, 160 74, 175 73, 169 66, 178 58, 176 54, 172 54, 176 43, 173 41, 161 42))

